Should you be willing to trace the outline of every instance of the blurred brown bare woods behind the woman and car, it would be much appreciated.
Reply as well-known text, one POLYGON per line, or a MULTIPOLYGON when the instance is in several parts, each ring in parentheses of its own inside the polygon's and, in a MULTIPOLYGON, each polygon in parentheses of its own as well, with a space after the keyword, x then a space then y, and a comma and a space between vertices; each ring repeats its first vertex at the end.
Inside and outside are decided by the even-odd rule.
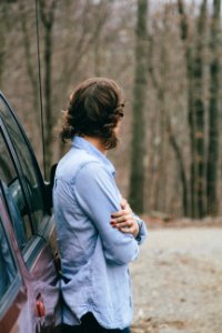
MULTIPOLYGON (((37 24, 47 178, 68 149, 62 112, 88 77, 125 94, 121 143, 109 152, 138 213, 222 214, 220 0, 1 0, 0 89, 42 168, 37 24)), ((42 168, 43 169, 43 168, 42 168)))

